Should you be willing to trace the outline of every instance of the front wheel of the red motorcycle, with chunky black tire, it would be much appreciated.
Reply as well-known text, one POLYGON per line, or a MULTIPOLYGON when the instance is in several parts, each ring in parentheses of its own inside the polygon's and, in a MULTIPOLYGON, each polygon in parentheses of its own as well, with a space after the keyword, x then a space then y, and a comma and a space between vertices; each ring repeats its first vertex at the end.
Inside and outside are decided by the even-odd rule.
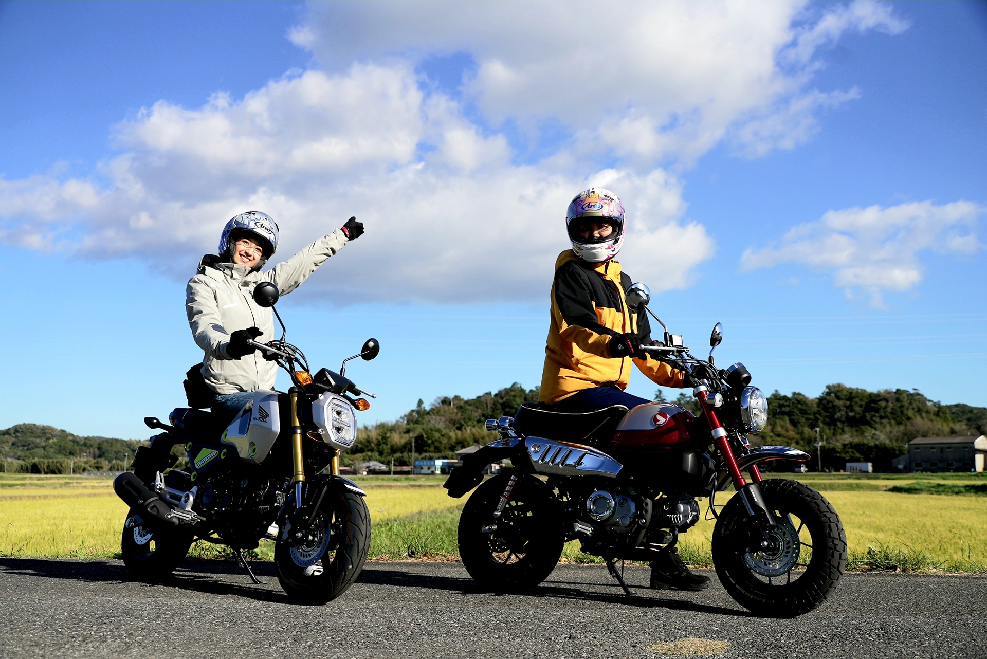
POLYGON ((771 548, 748 547, 754 522, 734 496, 713 532, 713 561, 738 604, 763 616, 795 618, 833 593, 847 566, 847 536, 833 506, 811 487, 769 478, 761 491, 778 521, 771 548))

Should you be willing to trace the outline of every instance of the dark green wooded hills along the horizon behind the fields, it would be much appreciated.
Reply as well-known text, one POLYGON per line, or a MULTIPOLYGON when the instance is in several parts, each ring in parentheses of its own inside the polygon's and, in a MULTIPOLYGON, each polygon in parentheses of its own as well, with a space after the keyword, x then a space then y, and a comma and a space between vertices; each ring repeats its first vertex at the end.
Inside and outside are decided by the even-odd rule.
MULTIPOLYGON (((655 398, 664 400, 661 390, 655 398)), ((491 440, 484 430, 485 420, 513 416, 521 403, 537 400, 537 388, 525 389, 518 383, 472 399, 439 397, 429 405, 419 400, 395 421, 359 428, 353 448, 342 454, 342 464, 375 460, 407 466, 413 452, 416 459, 452 459, 459 449, 491 440)), ((675 403, 699 411, 691 394, 680 394, 675 403)), ((776 391, 768 405, 768 425, 750 436, 751 443, 806 451, 812 455, 809 469, 813 471, 818 468, 816 439, 822 443, 823 469, 842 470, 847 462, 871 462, 878 471, 890 471, 891 461, 907 453, 908 442, 916 437, 987 432, 987 407, 943 404, 918 390, 871 392, 834 384, 816 398, 776 391)), ((0 459, 8 459, 8 471, 67 473, 71 467, 66 461, 76 461, 77 473, 116 471, 127 455, 133 458, 139 445, 135 440, 79 437, 31 423, 0 430, 0 459)))

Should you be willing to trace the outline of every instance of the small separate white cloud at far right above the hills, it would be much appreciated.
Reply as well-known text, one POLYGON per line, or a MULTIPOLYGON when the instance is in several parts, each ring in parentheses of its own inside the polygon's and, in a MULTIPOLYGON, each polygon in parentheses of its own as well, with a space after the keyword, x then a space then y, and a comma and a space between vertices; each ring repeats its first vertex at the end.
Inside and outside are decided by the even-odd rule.
POLYGON ((849 293, 863 290, 880 306, 883 292, 906 291, 922 281, 922 252, 972 254, 981 249, 974 230, 984 210, 969 201, 831 210, 817 222, 793 228, 777 245, 747 250, 741 267, 794 262, 830 270, 835 285, 849 293))

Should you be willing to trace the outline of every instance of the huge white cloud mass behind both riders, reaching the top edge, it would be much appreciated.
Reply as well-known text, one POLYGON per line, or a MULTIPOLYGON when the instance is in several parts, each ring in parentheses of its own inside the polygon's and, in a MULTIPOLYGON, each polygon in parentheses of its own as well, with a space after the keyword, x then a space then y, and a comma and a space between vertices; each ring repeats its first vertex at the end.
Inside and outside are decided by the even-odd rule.
POLYGON ((355 214, 367 234, 330 268, 347 282, 321 272, 306 290, 542 299, 568 245, 565 207, 592 183, 625 200, 632 276, 680 288, 715 245, 669 164, 724 139, 747 155, 792 148, 815 112, 856 95, 808 89, 813 53, 847 31, 901 29, 860 3, 316 3, 290 38, 324 70, 198 109, 160 101, 114 128, 121 153, 91 179, 0 179, 0 239, 140 255, 181 277, 243 210, 279 221, 283 256, 355 214), (458 51, 477 62, 461 97, 420 79, 423 58, 458 51), (569 135, 525 162, 505 119, 569 135))

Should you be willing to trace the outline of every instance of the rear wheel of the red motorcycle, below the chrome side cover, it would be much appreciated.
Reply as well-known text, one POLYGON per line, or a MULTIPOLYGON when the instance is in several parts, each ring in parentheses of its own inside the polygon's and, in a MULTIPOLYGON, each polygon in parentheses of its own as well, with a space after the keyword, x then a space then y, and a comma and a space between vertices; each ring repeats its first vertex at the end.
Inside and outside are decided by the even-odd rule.
POLYGON ((459 554, 477 583, 494 592, 523 592, 544 581, 565 546, 558 502, 534 476, 519 475, 500 518, 493 516, 509 475, 470 496, 459 518, 459 554))

